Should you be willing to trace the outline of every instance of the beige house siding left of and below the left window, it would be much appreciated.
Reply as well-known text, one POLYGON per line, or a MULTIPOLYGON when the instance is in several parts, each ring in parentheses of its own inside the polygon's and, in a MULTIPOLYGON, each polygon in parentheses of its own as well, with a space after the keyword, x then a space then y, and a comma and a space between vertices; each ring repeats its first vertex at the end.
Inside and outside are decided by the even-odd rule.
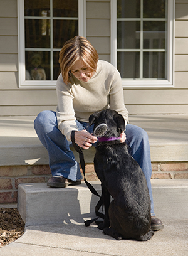
POLYGON ((18 88, 17 0, 0 2, 0 115, 37 115, 56 109, 56 91, 18 88))

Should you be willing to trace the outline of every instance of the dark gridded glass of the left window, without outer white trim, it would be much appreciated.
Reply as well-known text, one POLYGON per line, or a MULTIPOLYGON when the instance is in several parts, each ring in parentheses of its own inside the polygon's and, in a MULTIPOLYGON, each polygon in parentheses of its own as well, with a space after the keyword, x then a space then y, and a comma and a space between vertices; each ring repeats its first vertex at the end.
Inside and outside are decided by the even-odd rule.
POLYGON ((26 79, 56 80, 58 51, 78 35, 78 0, 24 0, 24 14, 26 79))

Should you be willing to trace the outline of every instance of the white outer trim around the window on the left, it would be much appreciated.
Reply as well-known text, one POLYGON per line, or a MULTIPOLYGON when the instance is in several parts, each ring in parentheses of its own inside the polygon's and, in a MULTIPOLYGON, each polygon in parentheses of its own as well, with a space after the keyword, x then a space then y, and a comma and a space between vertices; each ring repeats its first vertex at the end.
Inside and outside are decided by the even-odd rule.
MULTIPOLYGON (((86 0, 78 0, 78 33, 80 36, 86 36, 86 0)), ((24 38, 24 0, 18 0, 18 87, 55 88, 56 80, 26 80, 24 38)))

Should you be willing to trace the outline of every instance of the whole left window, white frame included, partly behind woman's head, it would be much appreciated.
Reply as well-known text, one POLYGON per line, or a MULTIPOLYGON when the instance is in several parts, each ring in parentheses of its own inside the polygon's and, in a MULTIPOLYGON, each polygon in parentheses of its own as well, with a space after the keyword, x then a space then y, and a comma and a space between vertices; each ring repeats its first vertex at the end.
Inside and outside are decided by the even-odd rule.
POLYGON ((59 52, 85 36, 85 0, 18 0, 19 87, 56 86, 59 52))

